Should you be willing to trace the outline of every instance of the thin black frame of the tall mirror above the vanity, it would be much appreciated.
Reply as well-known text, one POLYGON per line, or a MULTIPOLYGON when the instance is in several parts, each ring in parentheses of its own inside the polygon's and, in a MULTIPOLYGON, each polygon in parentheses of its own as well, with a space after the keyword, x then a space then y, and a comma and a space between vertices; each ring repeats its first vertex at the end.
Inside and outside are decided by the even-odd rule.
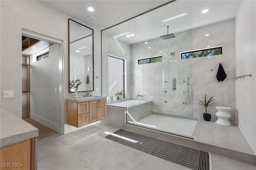
MULTIPOLYGON (((70 21, 73 21, 80 25, 83 25, 77 21, 70 19, 70 18, 68 19, 68 92, 71 92, 69 89, 69 82, 70 82, 70 21)), ((92 90, 78 91, 78 92, 92 92, 92 91, 94 91, 94 30, 85 25, 83 25, 83 26, 92 30, 92 80, 93 80, 93 82, 92 82, 92 90)), ((83 39, 83 38, 85 38, 85 37, 82 37, 81 39, 83 39)))

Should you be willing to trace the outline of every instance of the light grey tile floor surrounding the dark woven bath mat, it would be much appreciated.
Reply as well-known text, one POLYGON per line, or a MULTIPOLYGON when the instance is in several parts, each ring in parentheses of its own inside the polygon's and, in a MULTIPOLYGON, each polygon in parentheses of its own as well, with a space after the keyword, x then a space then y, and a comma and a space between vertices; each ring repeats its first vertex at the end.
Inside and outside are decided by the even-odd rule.
MULTIPOLYGON (((38 170, 186 170, 188 168, 105 139, 120 129, 98 123, 66 135, 38 140, 38 170)), ((211 154, 213 170, 255 170, 248 164, 211 154)))

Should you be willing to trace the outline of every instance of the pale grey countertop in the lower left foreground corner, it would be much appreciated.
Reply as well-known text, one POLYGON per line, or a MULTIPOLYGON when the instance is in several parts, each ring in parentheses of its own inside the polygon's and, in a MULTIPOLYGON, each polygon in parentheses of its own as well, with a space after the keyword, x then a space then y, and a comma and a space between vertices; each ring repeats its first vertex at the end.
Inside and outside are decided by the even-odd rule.
POLYGON ((12 112, 0 109, 0 147, 38 137, 38 129, 12 112))

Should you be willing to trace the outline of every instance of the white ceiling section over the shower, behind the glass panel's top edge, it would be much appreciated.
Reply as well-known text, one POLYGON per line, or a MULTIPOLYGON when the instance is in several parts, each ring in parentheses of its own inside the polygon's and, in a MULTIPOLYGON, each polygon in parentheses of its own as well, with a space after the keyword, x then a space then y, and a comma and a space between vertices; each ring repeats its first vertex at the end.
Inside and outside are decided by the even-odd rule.
POLYGON ((234 19, 239 5, 239 0, 177 0, 106 29, 103 33, 127 44, 140 43, 166 35, 167 26, 169 26, 168 33, 175 35, 182 31, 234 19), (209 11, 203 14, 204 9, 209 11), (186 15, 163 22, 180 14, 186 15), (130 34, 134 36, 126 37, 130 34))

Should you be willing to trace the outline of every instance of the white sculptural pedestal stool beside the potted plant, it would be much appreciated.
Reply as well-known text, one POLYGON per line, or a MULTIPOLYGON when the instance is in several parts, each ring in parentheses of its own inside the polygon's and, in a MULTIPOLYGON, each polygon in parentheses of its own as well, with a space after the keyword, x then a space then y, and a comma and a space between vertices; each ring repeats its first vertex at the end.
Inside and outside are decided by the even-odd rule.
POLYGON ((231 123, 228 120, 231 117, 231 115, 228 113, 231 108, 224 106, 216 106, 215 108, 218 110, 218 112, 215 114, 218 117, 218 120, 216 120, 215 123, 224 126, 231 126, 231 123))

